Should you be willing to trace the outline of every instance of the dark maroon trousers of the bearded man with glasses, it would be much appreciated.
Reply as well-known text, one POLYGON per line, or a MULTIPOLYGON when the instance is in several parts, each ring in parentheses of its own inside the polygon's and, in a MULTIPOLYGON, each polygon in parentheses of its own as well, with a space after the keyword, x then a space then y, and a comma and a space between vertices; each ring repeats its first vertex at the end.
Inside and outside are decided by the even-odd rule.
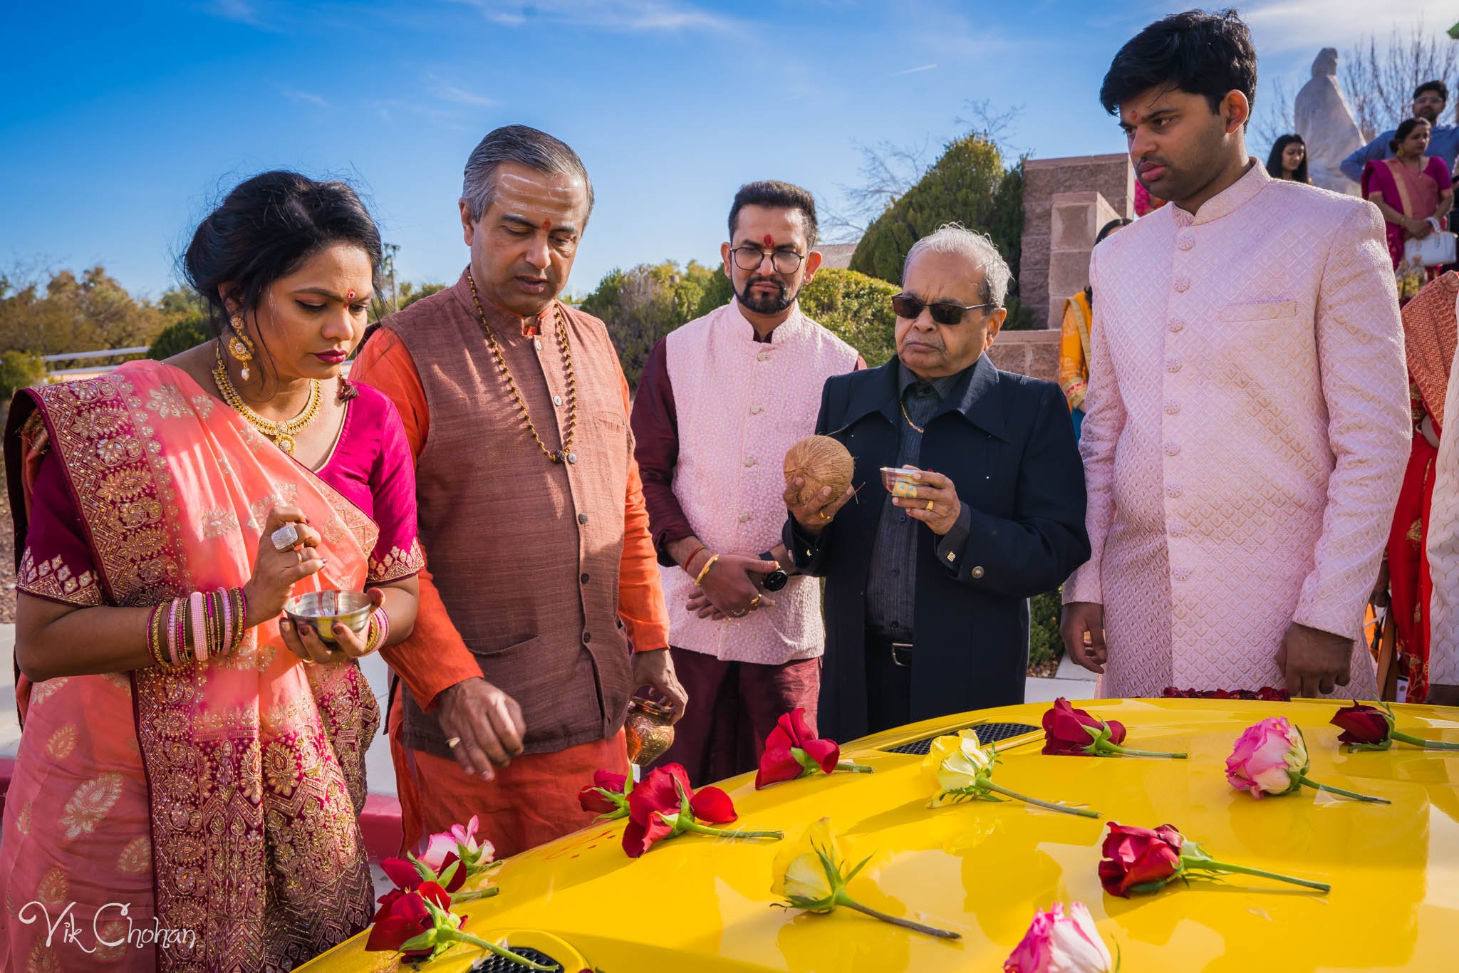
POLYGON ((670 652, 690 705, 674 724, 674 744, 655 766, 680 763, 694 783, 724 780, 759 766, 776 721, 792 709, 805 710, 814 732, 820 658, 759 665, 680 648, 670 652))

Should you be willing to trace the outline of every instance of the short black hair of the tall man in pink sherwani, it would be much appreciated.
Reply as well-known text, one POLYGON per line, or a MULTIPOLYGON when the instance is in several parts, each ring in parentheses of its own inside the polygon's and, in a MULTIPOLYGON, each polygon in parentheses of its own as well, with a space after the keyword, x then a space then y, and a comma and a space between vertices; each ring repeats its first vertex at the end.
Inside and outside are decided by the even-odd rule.
POLYGON ((1236 10, 1186 10, 1156 20, 1119 48, 1099 101, 1112 115, 1151 88, 1204 95, 1211 112, 1239 90, 1256 101, 1256 50, 1236 10))

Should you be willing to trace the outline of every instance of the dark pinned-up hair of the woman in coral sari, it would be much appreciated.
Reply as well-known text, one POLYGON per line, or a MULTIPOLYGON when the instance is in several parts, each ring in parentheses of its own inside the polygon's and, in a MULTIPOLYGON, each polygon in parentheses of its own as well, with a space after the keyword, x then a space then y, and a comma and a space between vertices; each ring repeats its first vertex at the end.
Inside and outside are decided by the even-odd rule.
MULTIPOLYGON (((233 187, 193 232, 182 255, 182 276, 204 301, 213 334, 228 333, 232 317, 220 293, 252 319, 268 286, 334 244, 359 247, 369 257, 379 289, 379 228, 344 182, 317 182, 298 172, 261 172, 233 187)), ((267 350, 260 359, 267 359, 267 350)))

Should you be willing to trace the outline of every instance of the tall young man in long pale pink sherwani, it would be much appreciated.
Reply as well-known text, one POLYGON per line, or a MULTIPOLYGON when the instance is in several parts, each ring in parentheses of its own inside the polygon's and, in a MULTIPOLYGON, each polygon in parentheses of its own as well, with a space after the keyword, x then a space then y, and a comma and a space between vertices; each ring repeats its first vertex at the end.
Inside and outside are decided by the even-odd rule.
POLYGON ((1383 219, 1247 158, 1255 88, 1246 25, 1191 12, 1125 44, 1100 90, 1173 203, 1090 264, 1093 556, 1061 629, 1103 696, 1374 694, 1363 610, 1409 438, 1383 219))

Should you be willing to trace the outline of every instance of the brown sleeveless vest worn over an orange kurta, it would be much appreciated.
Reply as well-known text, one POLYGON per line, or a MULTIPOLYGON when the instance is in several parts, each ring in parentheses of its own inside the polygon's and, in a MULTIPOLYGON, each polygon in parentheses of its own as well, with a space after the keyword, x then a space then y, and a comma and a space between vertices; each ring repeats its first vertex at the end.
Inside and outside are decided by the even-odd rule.
MULTIPOLYGON (((568 372, 553 315, 534 340, 481 302, 537 435, 568 429, 568 372)), ((619 623, 623 505, 633 443, 607 328, 559 305, 576 372, 576 462, 550 462, 487 347, 465 274, 387 318, 420 375, 430 425, 416 464, 420 543, 451 621, 487 681, 522 708, 527 753, 614 735, 627 713, 619 623)), ((401 743, 449 756, 435 715, 404 697, 401 743)))

